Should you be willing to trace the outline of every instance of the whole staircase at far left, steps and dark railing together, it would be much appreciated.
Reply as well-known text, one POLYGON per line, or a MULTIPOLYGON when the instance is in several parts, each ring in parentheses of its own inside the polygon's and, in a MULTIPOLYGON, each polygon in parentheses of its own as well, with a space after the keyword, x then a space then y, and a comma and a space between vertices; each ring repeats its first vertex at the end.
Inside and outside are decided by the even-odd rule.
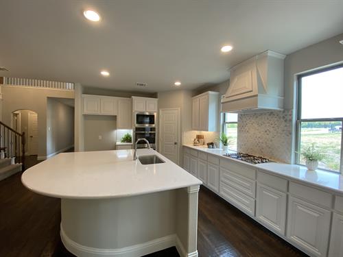
POLYGON ((0 181, 25 170, 25 133, 0 121, 0 181))

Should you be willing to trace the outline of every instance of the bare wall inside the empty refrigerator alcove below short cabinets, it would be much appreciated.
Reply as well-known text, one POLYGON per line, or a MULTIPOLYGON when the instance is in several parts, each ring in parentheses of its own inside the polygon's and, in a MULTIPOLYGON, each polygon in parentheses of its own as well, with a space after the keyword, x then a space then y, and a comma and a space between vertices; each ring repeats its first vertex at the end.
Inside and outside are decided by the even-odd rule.
POLYGON ((116 126, 115 116, 84 115, 84 151, 115 150, 116 126))

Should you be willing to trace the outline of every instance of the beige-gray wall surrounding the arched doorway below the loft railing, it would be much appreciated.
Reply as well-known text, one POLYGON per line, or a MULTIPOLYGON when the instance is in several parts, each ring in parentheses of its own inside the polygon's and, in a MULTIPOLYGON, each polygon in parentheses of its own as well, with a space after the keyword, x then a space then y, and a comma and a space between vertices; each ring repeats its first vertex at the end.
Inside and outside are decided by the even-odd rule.
POLYGON ((47 156, 47 97, 74 98, 74 91, 21 86, 2 86, 2 118, 10 125, 12 112, 32 110, 38 114, 38 158, 47 156))

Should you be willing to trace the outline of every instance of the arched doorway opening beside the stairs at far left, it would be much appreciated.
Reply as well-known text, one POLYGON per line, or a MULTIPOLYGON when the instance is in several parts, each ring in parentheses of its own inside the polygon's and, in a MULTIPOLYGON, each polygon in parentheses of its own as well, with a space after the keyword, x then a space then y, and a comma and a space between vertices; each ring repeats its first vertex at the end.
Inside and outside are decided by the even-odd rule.
POLYGON ((25 156, 35 158, 38 155, 38 114, 33 110, 16 110, 12 112, 11 125, 19 133, 25 132, 25 156))

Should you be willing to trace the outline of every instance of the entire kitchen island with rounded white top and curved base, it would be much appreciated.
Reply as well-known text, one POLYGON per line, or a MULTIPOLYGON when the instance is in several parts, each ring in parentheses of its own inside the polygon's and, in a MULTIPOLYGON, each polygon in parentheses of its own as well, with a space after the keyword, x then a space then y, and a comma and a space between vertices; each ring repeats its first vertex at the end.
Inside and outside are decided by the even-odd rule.
POLYGON ((60 236, 76 256, 143 256, 176 246, 198 256, 202 182, 151 149, 64 153, 22 175, 23 184, 61 199, 60 236))

